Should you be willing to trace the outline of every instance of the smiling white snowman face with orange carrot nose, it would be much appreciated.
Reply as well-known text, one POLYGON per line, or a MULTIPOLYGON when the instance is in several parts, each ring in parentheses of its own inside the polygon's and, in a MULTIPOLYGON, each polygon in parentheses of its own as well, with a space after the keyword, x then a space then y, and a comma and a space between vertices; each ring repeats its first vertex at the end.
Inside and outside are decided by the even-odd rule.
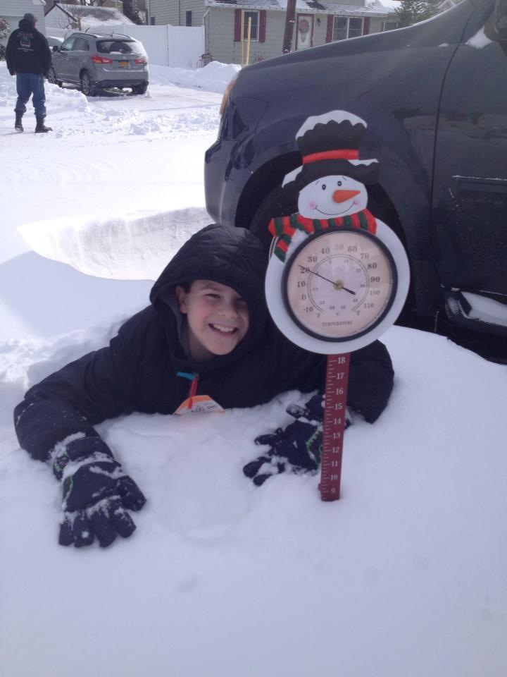
POLYGON ((365 185, 349 176, 324 176, 299 191, 298 211, 307 219, 332 219, 366 208, 365 185))

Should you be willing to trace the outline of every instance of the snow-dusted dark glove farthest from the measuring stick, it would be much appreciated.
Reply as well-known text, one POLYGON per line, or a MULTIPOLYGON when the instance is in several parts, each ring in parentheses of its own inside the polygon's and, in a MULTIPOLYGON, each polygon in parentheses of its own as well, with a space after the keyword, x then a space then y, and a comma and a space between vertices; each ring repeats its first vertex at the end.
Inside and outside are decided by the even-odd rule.
POLYGON ((127 510, 138 511, 146 499, 100 437, 79 437, 57 444, 53 471, 63 487, 63 518, 58 542, 80 548, 94 536, 101 547, 135 530, 127 510))

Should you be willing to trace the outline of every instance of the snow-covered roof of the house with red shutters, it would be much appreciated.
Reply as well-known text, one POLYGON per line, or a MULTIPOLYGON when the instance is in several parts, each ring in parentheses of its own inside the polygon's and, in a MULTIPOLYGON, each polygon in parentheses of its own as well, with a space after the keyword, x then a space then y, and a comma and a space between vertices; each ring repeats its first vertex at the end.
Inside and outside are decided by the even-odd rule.
MULTIPOLYGON (((385 0, 386 3, 394 0, 385 0)), ((270 9, 285 11, 287 0, 204 0, 208 7, 237 7, 240 9, 270 9)), ((315 14, 340 14, 351 16, 387 16, 390 10, 380 0, 360 7, 357 5, 337 4, 321 0, 296 0, 297 11, 312 11, 315 14)))

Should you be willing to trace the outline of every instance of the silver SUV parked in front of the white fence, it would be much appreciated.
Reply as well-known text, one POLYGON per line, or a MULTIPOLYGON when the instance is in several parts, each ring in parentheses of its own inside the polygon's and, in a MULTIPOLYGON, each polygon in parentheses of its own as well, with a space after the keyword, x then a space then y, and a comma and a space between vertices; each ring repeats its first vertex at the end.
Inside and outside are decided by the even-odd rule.
POLYGON ((107 87, 130 87, 134 94, 148 88, 148 58, 139 40, 129 35, 73 33, 53 47, 50 83, 78 85, 87 97, 107 87))

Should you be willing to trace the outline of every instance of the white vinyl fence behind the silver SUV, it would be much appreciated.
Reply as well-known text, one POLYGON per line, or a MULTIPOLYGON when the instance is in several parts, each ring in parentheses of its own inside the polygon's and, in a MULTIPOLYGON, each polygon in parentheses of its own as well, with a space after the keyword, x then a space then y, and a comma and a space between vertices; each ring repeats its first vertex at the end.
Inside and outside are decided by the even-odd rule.
MULTIPOLYGON (((204 26, 137 26, 102 24, 87 26, 89 33, 118 32, 131 35, 144 44, 149 63, 173 68, 197 68, 204 54, 204 26)), ((72 28, 47 28, 46 35, 66 37, 72 28)))

